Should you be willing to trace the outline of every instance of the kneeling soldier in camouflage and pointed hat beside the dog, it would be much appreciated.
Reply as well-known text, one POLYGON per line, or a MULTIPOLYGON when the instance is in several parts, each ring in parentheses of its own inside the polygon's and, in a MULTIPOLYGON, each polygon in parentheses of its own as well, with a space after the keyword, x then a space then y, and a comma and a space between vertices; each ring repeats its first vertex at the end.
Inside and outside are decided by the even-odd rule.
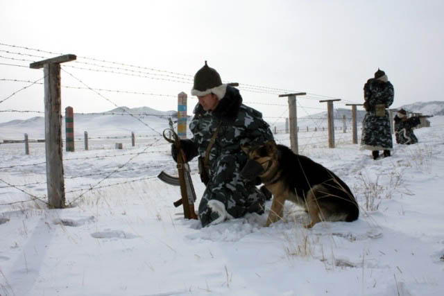
MULTIPOLYGON (((187 161, 199 155, 200 179, 206 185, 198 213, 202 226, 247 213, 263 214, 264 193, 240 176, 248 160, 241 145, 273 141, 268 123, 260 112, 242 104, 239 90, 223 84, 206 61, 194 76, 191 94, 199 100, 189 124, 193 137, 180 140, 180 146, 187 161)), ((176 159, 174 146, 171 155, 176 159)))

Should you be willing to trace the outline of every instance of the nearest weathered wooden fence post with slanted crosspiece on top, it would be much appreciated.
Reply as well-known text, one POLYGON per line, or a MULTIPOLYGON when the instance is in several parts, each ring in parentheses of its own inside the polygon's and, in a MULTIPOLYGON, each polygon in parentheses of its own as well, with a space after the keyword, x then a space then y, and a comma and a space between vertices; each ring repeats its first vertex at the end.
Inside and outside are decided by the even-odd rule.
POLYGON ((46 150, 46 186, 49 208, 65 207, 65 180, 62 162, 62 112, 60 92, 60 64, 76 60, 76 55, 33 62, 31 69, 43 68, 44 73, 44 129, 46 150))

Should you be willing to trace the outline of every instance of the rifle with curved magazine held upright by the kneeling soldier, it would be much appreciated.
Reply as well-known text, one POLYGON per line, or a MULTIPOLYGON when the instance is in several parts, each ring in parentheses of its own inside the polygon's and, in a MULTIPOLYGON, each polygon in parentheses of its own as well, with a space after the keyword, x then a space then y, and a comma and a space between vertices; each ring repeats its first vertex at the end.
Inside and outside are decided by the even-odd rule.
POLYGON ((180 200, 177 200, 176 202, 173 202, 174 207, 179 207, 180 204, 183 205, 183 214, 185 218, 187 219, 197 219, 196 212, 194 211, 194 202, 196 201, 196 192, 194 191, 193 182, 191 180, 191 175, 189 173, 189 164, 187 162, 187 159, 185 157, 185 153, 183 152, 182 148, 180 148, 180 139, 178 134, 174 132, 174 130, 171 130, 167 128, 163 132, 164 138, 169 141, 169 143, 173 143, 174 147, 176 148, 176 151, 178 152, 177 157, 177 167, 178 167, 178 174, 179 177, 173 177, 171 175, 168 175, 164 171, 161 171, 157 177, 162 180, 163 182, 173 185, 173 186, 180 186, 180 195, 182 195, 182 198, 180 200), (165 132, 169 132, 172 134, 173 139, 169 139, 165 132))

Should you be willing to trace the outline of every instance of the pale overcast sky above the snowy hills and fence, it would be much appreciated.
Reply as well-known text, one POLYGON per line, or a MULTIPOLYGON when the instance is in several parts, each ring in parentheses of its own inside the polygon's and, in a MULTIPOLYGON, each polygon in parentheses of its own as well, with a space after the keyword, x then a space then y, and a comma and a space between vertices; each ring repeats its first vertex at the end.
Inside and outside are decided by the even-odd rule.
MULTIPOLYGON (((18 65, 66 53, 87 62, 62 64, 62 85, 83 87, 62 89, 62 108, 74 112, 176 110, 175 96, 190 94, 205 60, 271 118, 288 114, 287 100, 278 98, 287 92, 309 93, 298 98, 301 116, 325 110, 323 98, 341 98, 334 107, 363 103, 364 83, 378 67, 395 87, 392 107, 443 101, 443 15, 439 0, 2 0, 0 111, 43 111, 42 85, 22 90, 30 83, 10 80, 42 78, 41 69, 18 65), (99 68, 108 72, 79 69, 99 63, 85 58, 141 68, 132 68, 136 75, 119 75, 119 64, 99 68)), ((189 95, 189 113, 195 103, 189 95)), ((31 116, 42 114, 0 112, 0 122, 31 116)))

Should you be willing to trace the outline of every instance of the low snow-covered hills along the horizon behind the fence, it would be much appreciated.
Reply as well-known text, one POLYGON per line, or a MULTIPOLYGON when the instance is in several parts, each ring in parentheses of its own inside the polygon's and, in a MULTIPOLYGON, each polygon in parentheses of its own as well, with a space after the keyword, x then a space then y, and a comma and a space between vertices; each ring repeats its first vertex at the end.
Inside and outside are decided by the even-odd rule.
MULTIPOLYGON (((444 115, 444 101, 418 102, 401 106, 409 112, 444 115)), ((400 108, 401 108, 400 107, 400 108)), ((360 124, 366 112, 357 110, 357 122, 360 124)), ((350 127, 352 110, 338 108, 334 110, 336 126, 342 126, 345 115, 346 125, 350 127)), ((169 118, 177 119, 177 111, 159 111, 150 107, 128 108, 117 107, 113 110, 92 114, 74 113, 74 137, 82 138, 86 131, 89 137, 121 137, 131 132, 137 135, 151 135, 169 128, 169 118), (130 114, 133 114, 131 116, 130 114), (112 127, 112 128, 110 128, 112 127)), ((62 121, 62 130, 65 130, 65 121, 62 121)), ((275 123, 278 130, 284 129, 284 122, 275 123)), ((298 117, 298 126, 305 129, 326 128, 327 112, 298 117)), ((272 127, 273 128, 273 127, 272 127)), ((27 133, 29 139, 44 139, 44 117, 36 116, 26 120, 13 120, 0 123, 0 142, 3 139, 23 139, 27 133)), ((64 137, 65 135, 62 135, 64 137)))

